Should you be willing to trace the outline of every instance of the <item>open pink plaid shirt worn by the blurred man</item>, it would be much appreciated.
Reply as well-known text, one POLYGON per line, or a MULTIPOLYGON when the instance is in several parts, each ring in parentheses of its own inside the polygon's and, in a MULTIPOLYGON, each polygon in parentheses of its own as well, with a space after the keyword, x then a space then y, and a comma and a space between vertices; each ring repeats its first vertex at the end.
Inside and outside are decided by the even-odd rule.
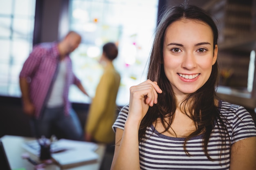
MULTIPOLYGON (((69 114, 68 110, 71 104, 68 100, 68 92, 71 84, 78 85, 80 80, 72 71, 72 62, 70 57, 65 57, 66 76, 65 87, 63 92, 65 114, 69 114)), ((50 89, 55 80, 59 64, 58 43, 45 42, 34 46, 29 57, 25 61, 20 72, 20 78, 27 78, 29 84, 29 95, 31 102, 36 109, 35 117, 38 118, 45 107, 46 100, 49 97, 50 89)))

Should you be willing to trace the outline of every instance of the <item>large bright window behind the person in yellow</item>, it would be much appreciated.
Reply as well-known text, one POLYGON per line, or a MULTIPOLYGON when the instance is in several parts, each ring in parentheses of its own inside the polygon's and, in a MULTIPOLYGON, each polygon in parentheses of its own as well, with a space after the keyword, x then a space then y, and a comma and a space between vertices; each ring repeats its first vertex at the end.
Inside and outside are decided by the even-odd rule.
MULTIPOLYGON (((157 6, 158 0, 70 0, 70 29, 83 39, 71 54, 73 68, 90 96, 94 96, 102 74, 98 63, 101 48, 106 42, 115 42, 119 55, 114 65, 121 75, 117 105, 129 102, 130 86, 146 79, 157 6)), ((83 96, 71 89, 71 101, 90 102, 83 96)))

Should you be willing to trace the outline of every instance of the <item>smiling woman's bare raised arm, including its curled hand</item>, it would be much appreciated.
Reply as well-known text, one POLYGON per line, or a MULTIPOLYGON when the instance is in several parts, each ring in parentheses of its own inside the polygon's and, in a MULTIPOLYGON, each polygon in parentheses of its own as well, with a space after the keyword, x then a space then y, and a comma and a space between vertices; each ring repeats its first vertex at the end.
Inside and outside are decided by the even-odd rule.
POLYGON ((115 154, 111 170, 140 170, 139 125, 149 106, 157 103, 157 93, 162 93, 156 82, 145 82, 130 88, 129 111, 124 130, 117 128, 115 154))

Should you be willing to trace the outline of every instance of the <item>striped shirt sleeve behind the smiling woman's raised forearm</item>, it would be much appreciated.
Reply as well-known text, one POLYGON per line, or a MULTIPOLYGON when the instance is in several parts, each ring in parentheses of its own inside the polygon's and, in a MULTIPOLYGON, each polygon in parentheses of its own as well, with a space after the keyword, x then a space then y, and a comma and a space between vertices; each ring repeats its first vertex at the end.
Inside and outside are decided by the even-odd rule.
POLYGON ((121 108, 121 110, 117 116, 117 119, 112 126, 112 129, 114 130, 114 132, 116 132, 116 128, 124 130, 124 124, 125 124, 127 116, 128 116, 128 110, 129 110, 129 105, 126 105, 123 108, 121 108))

